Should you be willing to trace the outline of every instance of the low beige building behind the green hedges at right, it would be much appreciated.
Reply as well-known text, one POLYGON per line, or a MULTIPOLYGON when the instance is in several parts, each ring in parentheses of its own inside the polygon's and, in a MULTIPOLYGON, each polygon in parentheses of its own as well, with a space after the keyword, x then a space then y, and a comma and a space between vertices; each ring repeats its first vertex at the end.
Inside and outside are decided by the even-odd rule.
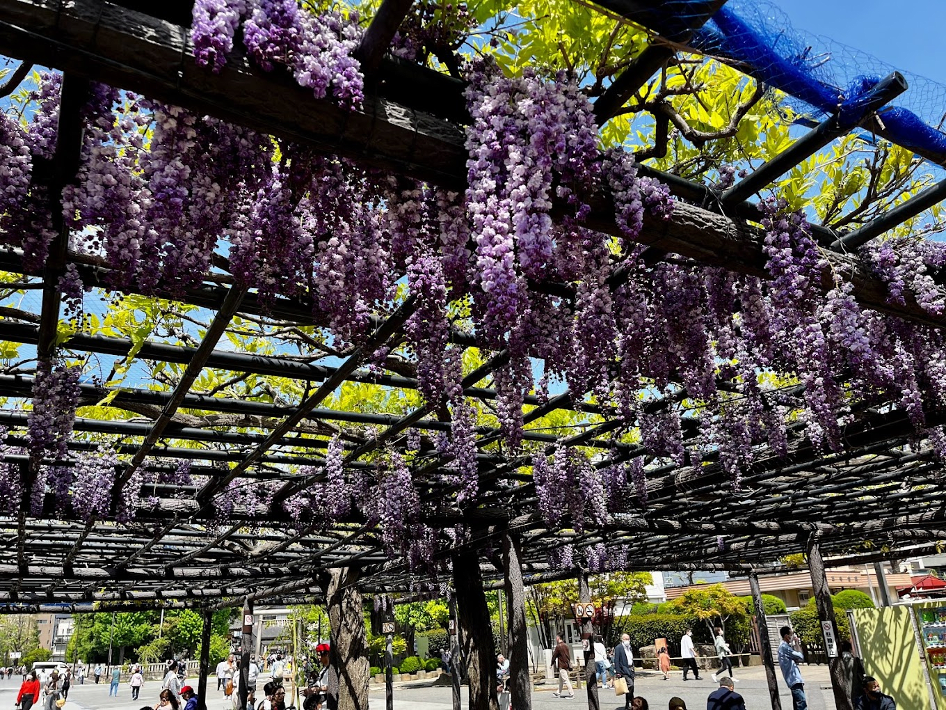
MULTIPOLYGON (((835 567, 826 570, 825 576, 828 578, 828 587, 832 594, 845 589, 856 589, 868 595, 876 606, 881 606, 879 594, 879 582, 873 566, 857 567, 835 567)), ((889 598, 897 598, 897 589, 910 585, 910 575, 900 572, 885 570, 885 582, 889 598)), ((727 588, 729 592, 736 596, 748 596, 751 594, 749 589, 748 577, 728 578, 719 582, 727 588)), ((668 601, 683 595, 691 589, 698 589, 705 584, 681 585, 676 587, 667 587, 666 595, 668 601)), ((808 600, 814 595, 812 587, 812 577, 808 570, 786 570, 784 572, 773 572, 759 576, 759 587, 762 594, 778 596, 789 610, 798 609, 808 604, 808 600)))

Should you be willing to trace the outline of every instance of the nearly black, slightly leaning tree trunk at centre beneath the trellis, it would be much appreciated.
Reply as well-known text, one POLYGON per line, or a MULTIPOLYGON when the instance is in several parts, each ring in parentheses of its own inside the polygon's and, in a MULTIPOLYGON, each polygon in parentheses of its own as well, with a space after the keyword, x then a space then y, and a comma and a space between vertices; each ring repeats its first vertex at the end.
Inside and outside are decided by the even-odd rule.
POLYGON ((470 710, 499 710, 496 695, 496 646, 482 591, 480 559, 476 552, 453 553, 453 586, 457 590, 460 627, 463 630, 470 710))

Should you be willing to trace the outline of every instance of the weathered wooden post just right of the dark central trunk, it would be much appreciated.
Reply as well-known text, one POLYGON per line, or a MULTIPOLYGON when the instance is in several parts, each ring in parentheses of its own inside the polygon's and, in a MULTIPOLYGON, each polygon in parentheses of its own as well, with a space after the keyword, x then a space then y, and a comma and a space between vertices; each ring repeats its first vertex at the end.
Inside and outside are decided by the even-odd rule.
POLYGON ((517 536, 502 537, 505 567, 506 612, 508 615, 509 694, 516 710, 532 710, 532 683, 529 677, 529 637, 526 631, 526 590, 522 580, 521 543, 517 536))

